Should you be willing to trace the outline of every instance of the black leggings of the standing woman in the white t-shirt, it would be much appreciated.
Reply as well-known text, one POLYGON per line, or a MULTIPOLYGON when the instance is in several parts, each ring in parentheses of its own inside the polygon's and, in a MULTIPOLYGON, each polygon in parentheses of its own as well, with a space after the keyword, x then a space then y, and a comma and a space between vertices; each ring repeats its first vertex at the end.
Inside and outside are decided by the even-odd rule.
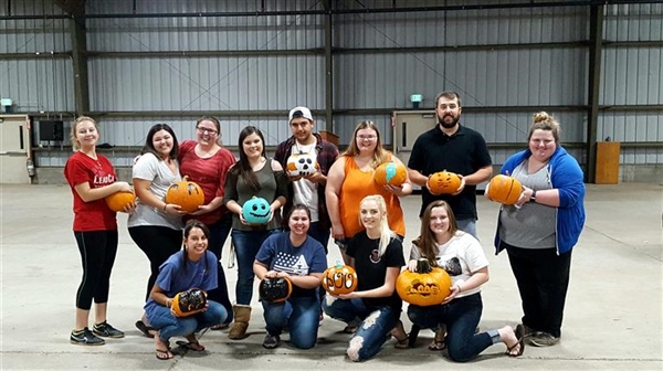
POLYGON ((147 280, 147 293, 145 294, 147 301, 149 293, 157 282, 157 276, 159 276, 159 267, 170 255, 180 250, 182 231, 167 226, 140 225, 129 227, 129 235, 149 259, 151 274, 147 280))

